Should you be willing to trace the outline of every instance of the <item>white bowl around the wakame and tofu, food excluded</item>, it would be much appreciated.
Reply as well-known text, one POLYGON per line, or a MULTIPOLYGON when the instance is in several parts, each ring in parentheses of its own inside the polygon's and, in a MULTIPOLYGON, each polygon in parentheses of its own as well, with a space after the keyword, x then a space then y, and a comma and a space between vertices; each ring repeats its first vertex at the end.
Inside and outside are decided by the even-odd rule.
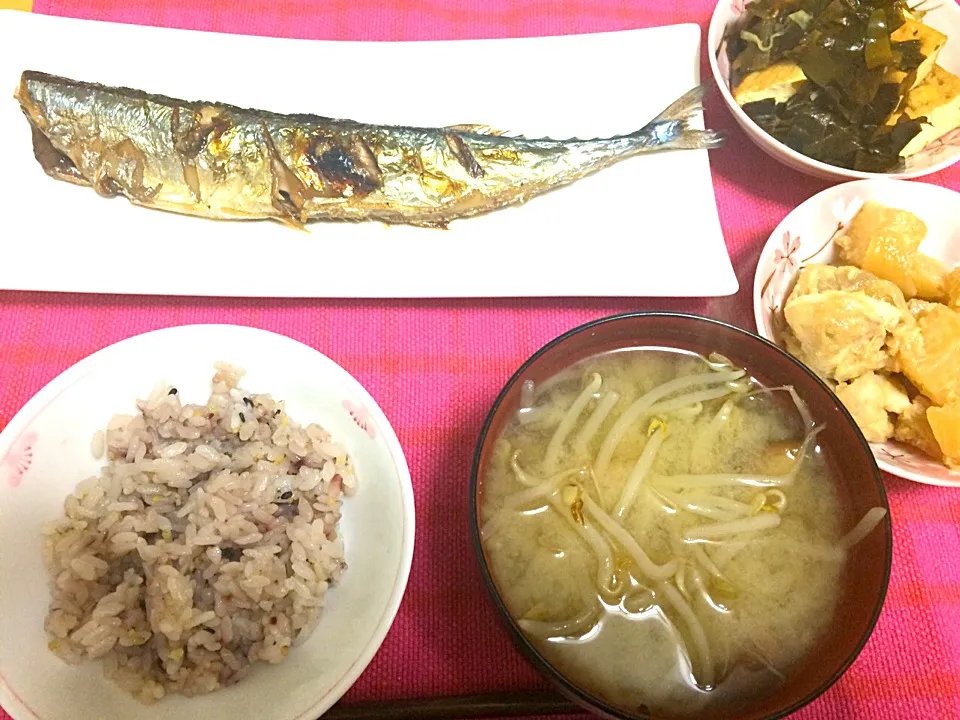
MULTIPOLYGON (((807 175, 838 179, 892 178, 905 180, 940 172, 960 161, 960 129, 952 130, 934 140, 916 155, 907 159, 903 170, 889 173, 870 173, 829 165, 797 152, 760 128, 733 99, 730 89, 730 63, 727 59, 728 29, 734 27, 749 4, 747 0, 720 0, 714 8, 707 30, 707 57, 713 80, 720 88, 724 102, 730 108, 737 124, 761 150, 775 160, 807 175)), ((960 5, 955 0, 930 3, 923 22, 947 36, 937 64, 955 75, 960 75, 960 5)))

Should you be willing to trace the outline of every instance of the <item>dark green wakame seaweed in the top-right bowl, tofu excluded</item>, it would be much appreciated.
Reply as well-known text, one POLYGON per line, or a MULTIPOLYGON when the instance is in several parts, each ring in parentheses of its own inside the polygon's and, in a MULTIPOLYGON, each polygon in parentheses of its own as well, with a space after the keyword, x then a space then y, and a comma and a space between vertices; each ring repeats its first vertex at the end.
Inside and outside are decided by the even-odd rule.
POLYGON ((754 0, 727 37, 731 85, 778 62, 798 65, 807 80, 785 103, 748 103, 744 111, 808 157, 861 171, 896 169, 924 120, 886 124, 925 59, 919 41, 891 39, 909 9, 904 0, 754 0), (906 76, 894 81, 893 71, 906 76))

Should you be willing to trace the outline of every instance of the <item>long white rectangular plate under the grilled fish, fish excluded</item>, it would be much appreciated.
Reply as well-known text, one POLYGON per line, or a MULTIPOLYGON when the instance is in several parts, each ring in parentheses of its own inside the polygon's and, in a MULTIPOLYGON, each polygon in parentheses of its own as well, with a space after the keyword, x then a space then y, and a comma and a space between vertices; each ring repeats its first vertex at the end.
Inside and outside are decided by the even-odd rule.
POLYGON ((0 288, 270 297, 737 291, 706 151, 627 160, 447 231, 321 222, 302 233, 146 210, 52 180, 11 97, 30 69, 277 112, 595 137, 639 129, 699 82, 695 25, 321 42, 5 11, 0 48, 0 288))

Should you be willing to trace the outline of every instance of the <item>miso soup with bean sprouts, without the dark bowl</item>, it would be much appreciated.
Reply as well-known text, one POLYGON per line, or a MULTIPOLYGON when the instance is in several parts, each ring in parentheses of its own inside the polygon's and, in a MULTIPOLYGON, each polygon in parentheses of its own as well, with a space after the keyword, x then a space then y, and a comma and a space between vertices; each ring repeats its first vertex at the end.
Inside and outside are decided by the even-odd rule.
POLYGON ((597 355, 496 440, 481 537, 507 610, 577 686, 668 717, 773 692, 831 626, 847 527, 792 387, 725 358, 597 355))

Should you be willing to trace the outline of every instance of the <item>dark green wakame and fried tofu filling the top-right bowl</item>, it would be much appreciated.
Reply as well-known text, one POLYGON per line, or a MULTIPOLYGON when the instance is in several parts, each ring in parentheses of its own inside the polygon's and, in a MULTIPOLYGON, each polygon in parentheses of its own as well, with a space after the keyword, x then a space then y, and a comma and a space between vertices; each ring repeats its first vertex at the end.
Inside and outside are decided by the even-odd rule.
POLYGON ((755 0, 727 34, 730 87, 780 142, 888 172, 960 124, 947 38, 905 0, 755 0))

